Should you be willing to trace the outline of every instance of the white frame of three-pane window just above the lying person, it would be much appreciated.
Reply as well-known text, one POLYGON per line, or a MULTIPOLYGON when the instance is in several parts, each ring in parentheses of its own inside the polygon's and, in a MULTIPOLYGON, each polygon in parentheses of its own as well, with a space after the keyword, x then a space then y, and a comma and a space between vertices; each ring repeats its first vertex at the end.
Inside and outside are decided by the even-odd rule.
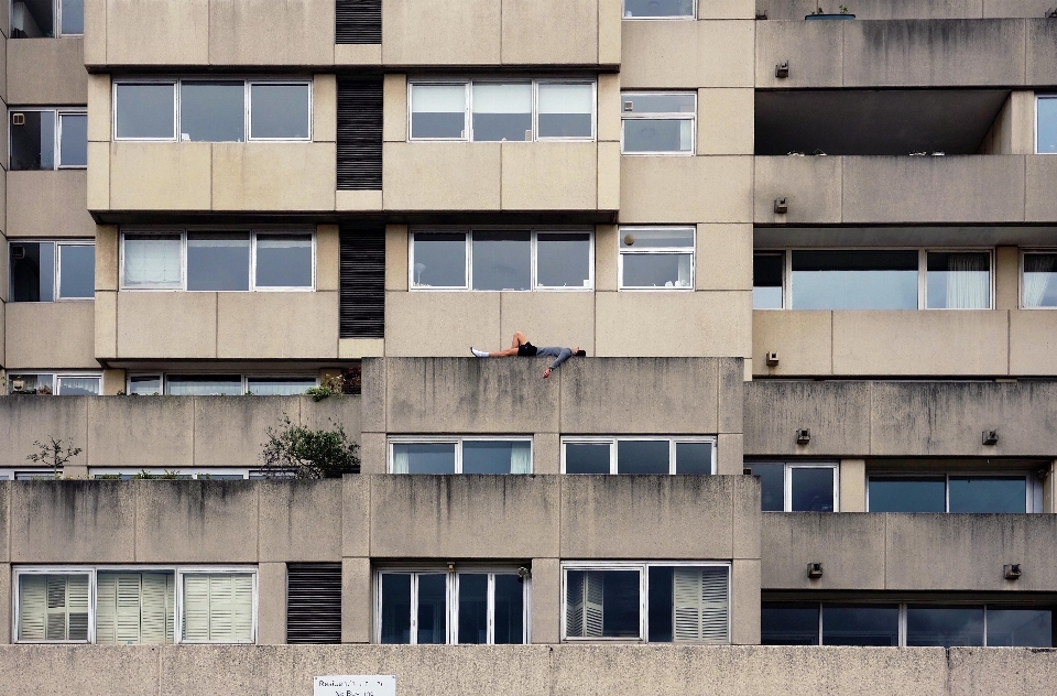
MULTIPOLYGON (((407 237, 407 287, 412 292, 453 292, 465 291, 475 293, 527 293, 527 292, 592 292, 595 290, 595 230, 587 228, 509 228, 504 226, 481 227, 477 229, 480 232, 528 232, 530 237, 530 278, 528 290, 475 290, 473 289, 473 229, 444 229, 444 228, 415 228, 408 232, 407 237), (415 278, 415 233, 423 235, 462 235, 466 267, 462 278, 466 279, 462 285, 418 285, 415 278), (538 252, 537 244, 540 235, 587 235, 588 244, 588 284, 581 286, 552 286, 540 285, 538 252)), ((693 268, 693 262, 691 262, 693 268)))

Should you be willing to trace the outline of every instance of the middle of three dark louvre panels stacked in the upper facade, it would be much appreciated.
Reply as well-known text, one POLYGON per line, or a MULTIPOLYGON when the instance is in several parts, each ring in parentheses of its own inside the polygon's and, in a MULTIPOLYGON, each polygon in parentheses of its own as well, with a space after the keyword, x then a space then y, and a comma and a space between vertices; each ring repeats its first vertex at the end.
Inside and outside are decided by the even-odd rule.
POLYGON ((382 189, 382 80, 338 80, 338 188, 382 189))

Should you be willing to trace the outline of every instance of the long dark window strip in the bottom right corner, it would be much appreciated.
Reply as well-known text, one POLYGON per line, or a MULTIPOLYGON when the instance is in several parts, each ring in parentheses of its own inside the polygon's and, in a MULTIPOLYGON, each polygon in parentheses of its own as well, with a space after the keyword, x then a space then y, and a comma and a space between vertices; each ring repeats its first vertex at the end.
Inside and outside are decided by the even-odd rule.
POLYGON ((763 602, 763 645, 1051 648, 1053 608, 763 602))

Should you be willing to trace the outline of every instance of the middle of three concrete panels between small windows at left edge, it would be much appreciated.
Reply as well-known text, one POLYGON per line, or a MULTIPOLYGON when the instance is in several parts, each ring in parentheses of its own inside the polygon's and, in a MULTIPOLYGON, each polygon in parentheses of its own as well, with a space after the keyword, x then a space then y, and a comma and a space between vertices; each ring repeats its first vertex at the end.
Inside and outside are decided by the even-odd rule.
POLYGON ((94 237, 87 170, 8 172, 8 237, 94 237))

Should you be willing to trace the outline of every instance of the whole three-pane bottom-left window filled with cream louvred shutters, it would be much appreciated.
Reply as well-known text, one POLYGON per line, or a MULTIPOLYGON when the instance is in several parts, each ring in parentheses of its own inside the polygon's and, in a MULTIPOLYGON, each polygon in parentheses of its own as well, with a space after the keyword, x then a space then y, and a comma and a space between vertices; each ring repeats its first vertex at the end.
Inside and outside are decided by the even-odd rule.
POLYGON ((253 568, 14 569, 20 643, 252 643, 253 568))

